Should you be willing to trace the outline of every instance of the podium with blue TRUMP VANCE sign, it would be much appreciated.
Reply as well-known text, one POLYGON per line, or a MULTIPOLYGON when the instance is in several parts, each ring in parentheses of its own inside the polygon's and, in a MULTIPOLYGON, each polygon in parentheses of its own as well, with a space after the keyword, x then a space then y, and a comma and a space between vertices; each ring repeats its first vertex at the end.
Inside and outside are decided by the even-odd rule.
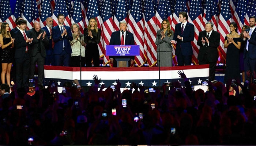
POLYGON ((106 45, 106 55, 117 61, 117 67, 129 67, 128 62, 140 55, 139 45, 106 45))

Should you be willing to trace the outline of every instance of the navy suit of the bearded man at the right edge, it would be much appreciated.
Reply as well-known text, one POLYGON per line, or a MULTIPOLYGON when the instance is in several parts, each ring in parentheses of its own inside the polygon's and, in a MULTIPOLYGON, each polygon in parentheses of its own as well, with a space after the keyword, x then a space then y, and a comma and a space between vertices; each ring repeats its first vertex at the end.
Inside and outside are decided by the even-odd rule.
MULTIPOLYGON (((250 31, 250 29, 245 30, 250 31)), ((245 39, 245 48, 244 48, 244 69, 245 72, 247 70, 251 70, 256 72, 256 28, 253 30, 251 34, 251 38, 249 39, 248 51, 246 50, 247 40, 245 39)), ((251 81, 251 76, 247 77, 246 80, 251 81)))

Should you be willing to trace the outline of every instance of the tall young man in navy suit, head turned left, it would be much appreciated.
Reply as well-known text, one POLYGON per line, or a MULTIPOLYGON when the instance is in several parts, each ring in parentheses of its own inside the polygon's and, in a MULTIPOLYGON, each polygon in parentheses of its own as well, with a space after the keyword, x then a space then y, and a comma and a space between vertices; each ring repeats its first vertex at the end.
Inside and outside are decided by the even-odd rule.
POLYGON ((186 12, 180 12, 178 19, 180 23, 175 26, 171 43, 176 43, 175 54, 177 55, 178 65, 191 65, 193 55, 191 41, 195 38, 195 27, 187 22, 188 14, 186 12))

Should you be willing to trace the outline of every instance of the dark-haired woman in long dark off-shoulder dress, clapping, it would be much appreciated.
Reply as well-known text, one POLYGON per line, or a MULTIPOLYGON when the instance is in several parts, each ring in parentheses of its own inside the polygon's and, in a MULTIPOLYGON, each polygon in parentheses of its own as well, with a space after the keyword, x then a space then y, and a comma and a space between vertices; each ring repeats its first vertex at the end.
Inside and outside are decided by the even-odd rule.
POLYGON ((237 33, 237 24, 231 22, 229 24, 230 34, 226 35, 224 48, 227 48, 226 56, 226 71, 224 76, 224 83, 228 79, 237 79, 240 77, 240 55, 239 50, 241 47, 241 38, 237 33))

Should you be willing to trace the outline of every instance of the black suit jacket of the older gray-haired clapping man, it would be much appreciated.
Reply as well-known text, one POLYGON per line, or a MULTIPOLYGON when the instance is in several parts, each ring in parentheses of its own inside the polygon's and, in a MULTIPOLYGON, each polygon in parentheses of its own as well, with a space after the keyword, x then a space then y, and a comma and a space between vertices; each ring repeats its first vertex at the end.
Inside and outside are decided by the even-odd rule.
POLYGON ((200 49, 199 49, 199 54, 197 56, 197 59, 199 61, 202 61, 204 58, 204 55, 206 55, 206 58, 208 59, 209 62, 217 62, 218 46, 219 46, 219 40, 221 38, 221 35, 219 34, 219 32, 212 30, 210 38, 208 39, 210 42, 209 46, 207 45, 207 43, 205 43, 203 46, 203 43, 201 40, 206 36, 207 36, 207 33, 205 30, 199 32, 197 45, 200 46, 200 49))

